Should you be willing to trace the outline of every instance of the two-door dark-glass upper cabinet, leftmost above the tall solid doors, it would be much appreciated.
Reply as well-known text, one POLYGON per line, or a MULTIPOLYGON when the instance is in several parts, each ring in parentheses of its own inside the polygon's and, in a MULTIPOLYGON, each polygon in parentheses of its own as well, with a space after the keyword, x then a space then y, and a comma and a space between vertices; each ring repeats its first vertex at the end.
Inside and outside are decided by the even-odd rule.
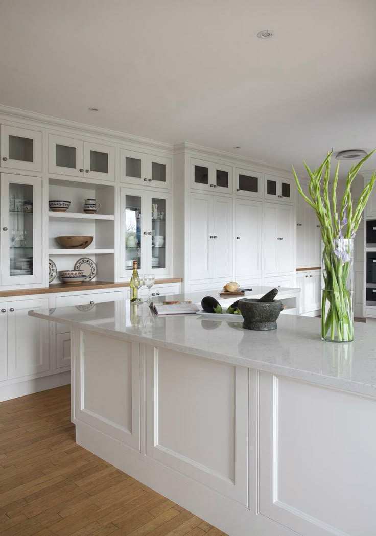
POLYGON ((232 167, 219 162, 191 158, 191 188, 232 193, 232 167))

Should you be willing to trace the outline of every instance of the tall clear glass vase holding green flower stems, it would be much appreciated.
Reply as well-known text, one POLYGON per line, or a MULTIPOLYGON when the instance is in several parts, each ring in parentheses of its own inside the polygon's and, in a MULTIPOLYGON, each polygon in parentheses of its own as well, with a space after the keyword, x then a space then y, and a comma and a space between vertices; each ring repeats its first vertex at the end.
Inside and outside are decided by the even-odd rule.
POLYGON ((354 340, 354 239, 322 244, 321 338, 354 340))

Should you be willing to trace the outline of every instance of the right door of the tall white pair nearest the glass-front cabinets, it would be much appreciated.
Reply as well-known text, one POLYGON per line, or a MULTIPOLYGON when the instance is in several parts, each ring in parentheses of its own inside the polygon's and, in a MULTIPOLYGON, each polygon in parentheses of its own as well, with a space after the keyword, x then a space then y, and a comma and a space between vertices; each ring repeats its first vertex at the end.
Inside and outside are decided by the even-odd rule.
POLYGON ((213 276, 232 277, 232 197, 213 196, 213 276))

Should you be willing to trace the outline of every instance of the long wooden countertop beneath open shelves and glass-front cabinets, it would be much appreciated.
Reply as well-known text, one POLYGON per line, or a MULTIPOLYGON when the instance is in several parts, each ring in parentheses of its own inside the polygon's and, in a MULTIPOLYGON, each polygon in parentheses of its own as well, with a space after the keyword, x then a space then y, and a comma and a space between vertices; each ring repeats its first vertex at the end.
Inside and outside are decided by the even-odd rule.
MULTIPOLYGON (((168 283, 181 283, 182 278, 175 277, 170 279, 156 279, 155 285, 168 283)), ((7 296, 29 296, 32 294, 55 294, 57 292, 79 292, 79 291, 96 291, 102 288, 123 288, 129 287, 129 281, 114 283, 113 281, 87 281, 81 285, 69 285, 66 283, 55 283, 49 287, 43 288, 22 288, 12 291, 0 291, 0 298, 7 296)))

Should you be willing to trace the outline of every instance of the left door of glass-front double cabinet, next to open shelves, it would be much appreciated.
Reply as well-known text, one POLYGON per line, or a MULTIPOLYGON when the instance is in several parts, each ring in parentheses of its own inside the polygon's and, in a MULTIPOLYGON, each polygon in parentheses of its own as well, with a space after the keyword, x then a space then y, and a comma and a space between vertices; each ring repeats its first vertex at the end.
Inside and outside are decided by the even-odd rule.
POLYGON ((151 243, 151 214, 147 212, 146 192, 121 188, 120 197, 120 255, 122 277, 131 277, 133 260, 138 270, 147 270, 147 244, 151 243), (150 235, 148 235, 150 233, 150 235))

